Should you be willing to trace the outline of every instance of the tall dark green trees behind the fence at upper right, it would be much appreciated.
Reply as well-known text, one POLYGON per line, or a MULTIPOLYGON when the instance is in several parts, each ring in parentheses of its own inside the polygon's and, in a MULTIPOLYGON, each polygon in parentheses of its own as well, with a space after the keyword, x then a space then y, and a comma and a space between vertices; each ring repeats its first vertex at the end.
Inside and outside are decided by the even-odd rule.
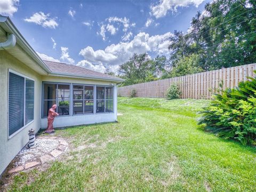
MULTIPOLYGON (((191 20, 187 34, 174 31, 170 38, 170 63, 191 54, 200 55, 203 70, 233 67, 255 62, 256 2, 219 0, 205 5, 191 20)), ((182 63, 182 62, 181 62, 182 63)))

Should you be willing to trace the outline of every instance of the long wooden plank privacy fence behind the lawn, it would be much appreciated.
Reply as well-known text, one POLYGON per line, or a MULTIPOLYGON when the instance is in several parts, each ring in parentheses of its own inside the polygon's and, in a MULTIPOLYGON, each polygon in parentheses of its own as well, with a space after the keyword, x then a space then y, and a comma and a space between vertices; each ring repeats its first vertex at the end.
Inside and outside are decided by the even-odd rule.
POLYGON ((128 97, 132 89, 136 90, 136 97, 166 98, 166 91, 172 83, 178 83, 182 92, 181 98, 211 99, 212 94, 219 93, 220 83, 223 90, 233 88, 247 77, 254 76, 256 63, 206 71, 192 75, 161 79, 153 82, 139 83, 118 87, 118 96, 128 97))

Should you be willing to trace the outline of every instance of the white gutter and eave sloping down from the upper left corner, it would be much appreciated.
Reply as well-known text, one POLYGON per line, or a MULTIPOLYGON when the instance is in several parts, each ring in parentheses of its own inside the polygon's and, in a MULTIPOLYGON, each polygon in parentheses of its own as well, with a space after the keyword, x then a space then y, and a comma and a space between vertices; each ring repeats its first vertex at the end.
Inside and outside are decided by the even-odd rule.
POLYGON ((17 43, 22 47, 23 50, 26 50, 28 55, 33 58, 39 66, 41 66, 46 73, 51 73, 49 67, 47 67, 44 61, 38 56, 35 50, 28 44, 26 39, 21 35, 19 30, 14 26, 13 22, 10 20, 9 17, 5 17, 0 15, 0 22, 4 24, 4 27, 9 29, 9 31, 15 35, 17 39, 17 43))

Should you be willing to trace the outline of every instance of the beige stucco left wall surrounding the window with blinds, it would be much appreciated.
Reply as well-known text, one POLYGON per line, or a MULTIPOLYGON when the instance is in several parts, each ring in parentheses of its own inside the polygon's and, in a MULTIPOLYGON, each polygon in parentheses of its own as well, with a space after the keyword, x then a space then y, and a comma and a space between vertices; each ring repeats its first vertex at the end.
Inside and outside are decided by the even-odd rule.
POLYGON ((28 142, 28 131, 41 128, 41 76, 34 70, 28 68, 24 63, 15 59, 6 51, 0 51, 0 175, 6 166, 19 153, 28 142), (8 139, 7 127, 7 101, 8 101, 8 73, 12 69, 22 75, 33 78, 35 81, 35 108, 34 122, 25 127, 22 131, 8 139))

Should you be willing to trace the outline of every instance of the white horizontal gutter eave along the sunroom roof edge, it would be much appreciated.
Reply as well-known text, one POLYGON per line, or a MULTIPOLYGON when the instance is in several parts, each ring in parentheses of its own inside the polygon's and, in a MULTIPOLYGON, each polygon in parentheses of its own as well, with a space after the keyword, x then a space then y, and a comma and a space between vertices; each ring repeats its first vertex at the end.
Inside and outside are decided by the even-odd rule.
POLYGON ((76 77, 76 78, 86 78, 86 79, 95 79, 101 81, 110 81, 110 82, 124 82, 124 79, 116 79, 116 78, 107 78, 107 77, 98 77, 93 75, 75 75, 75 74, 68 74, 68 73, 57 73, 51 72, 50 76, 60 76, 60 77, 76 77))

